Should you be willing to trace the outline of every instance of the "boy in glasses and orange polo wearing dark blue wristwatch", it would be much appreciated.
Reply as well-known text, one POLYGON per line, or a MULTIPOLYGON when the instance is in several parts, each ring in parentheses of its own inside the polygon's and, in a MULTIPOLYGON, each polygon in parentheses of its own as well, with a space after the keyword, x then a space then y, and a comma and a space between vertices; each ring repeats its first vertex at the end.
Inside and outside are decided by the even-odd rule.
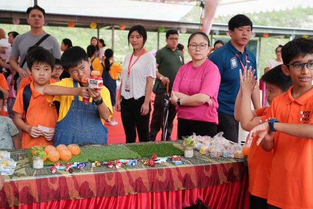
POLYGON ((293 87, 273 99, 264 122, 249 133, 273 150, 268 208, 313 208, 313 40, 299 38, 282 48, 283 72, 293 87))

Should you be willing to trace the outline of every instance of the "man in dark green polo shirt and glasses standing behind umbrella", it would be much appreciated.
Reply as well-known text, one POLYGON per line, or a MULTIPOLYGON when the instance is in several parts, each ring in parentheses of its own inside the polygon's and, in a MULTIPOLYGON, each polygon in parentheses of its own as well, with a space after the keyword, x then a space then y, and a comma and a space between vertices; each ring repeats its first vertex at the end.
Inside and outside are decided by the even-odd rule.
MULTIPOLYGON (((164 118, 164 93, 166 91, 166 83, 169 83, 169 92, 171 92, 176 74, 179 68, 184 64, 184 57, 177 49, 177 45, 179 43, 179 35, 177 30, 168 30, 166 32, 165 41, 167 45, 156 52, 156 68, 158 70, 156 71, 156 98, 154 101, 154 111, 150 124, 151 141, 156 140, 156 135, 162 127, 164 118)), ((171 140, 173 120, 175 116, 175 106, 170 103, 166 140, 171 140)))

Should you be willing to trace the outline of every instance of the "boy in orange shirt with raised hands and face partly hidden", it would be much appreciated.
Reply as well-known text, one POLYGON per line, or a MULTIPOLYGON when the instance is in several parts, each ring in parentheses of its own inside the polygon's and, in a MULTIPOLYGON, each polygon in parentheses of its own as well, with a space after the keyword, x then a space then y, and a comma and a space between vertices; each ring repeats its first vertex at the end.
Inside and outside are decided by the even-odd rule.
MULTIPOLYGON (((261 80, 266 82, 266 97, 269 104, 274 97, 287 92, 292 86, 291 78, 282 71, 282 65, 269 70, 261 80)), ((254 90, 255 82, 253 72, 250 70, 244 70, 244 75, 240 75, 240 91, 235 102, 234 116, 246 131, 257 126, 261 116, 265 116, 269 111, 269 106, 251 110, 251 93, 254 90)), ((255 142, 256 139, 252 141, 248 155, 249 208, 264 209, 268 207, 268 184, 273 153, 264 151, 255 142)))

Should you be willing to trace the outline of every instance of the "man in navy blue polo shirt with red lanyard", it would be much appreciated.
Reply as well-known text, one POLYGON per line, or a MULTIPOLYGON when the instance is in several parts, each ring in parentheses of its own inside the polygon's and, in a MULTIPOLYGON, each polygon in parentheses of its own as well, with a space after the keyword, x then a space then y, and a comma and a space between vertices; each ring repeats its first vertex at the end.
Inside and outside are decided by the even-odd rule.
MULTIPOLYGON (((251 20, 245 15, 236 15, 229 20, 228 30, 231 36, 230 41, 215 50, 209 59, 217 65, 221 73, 218 94, 219 109, 217 110, 218 132, 223 131, 226 139, 238 142, 239 123, 234 118, 234 108, 240 87, 239 69, 243 72, 245 66, 247 68, 252 66, 252 70, 257 66, 254 54, 246 49, 246 44, 251 37, 251 20)), ((257 75, 256 71, 255 75, 257 75)), ((253 91, 251 99, 255 109, 261 107, 258 86, 253 91)))

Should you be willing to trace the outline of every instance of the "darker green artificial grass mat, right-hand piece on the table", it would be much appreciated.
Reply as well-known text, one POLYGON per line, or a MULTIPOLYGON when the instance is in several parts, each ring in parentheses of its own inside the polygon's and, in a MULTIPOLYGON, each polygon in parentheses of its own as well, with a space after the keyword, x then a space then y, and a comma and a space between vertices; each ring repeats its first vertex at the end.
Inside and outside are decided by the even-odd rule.
POLYGON ((156 153, 157 157, 167 157, 173 155, 183 155, 183 150, 169 142, 150 142, 144 144, 127 144, 127 146, 138 153, 141 157, 151 157, 156 153))

